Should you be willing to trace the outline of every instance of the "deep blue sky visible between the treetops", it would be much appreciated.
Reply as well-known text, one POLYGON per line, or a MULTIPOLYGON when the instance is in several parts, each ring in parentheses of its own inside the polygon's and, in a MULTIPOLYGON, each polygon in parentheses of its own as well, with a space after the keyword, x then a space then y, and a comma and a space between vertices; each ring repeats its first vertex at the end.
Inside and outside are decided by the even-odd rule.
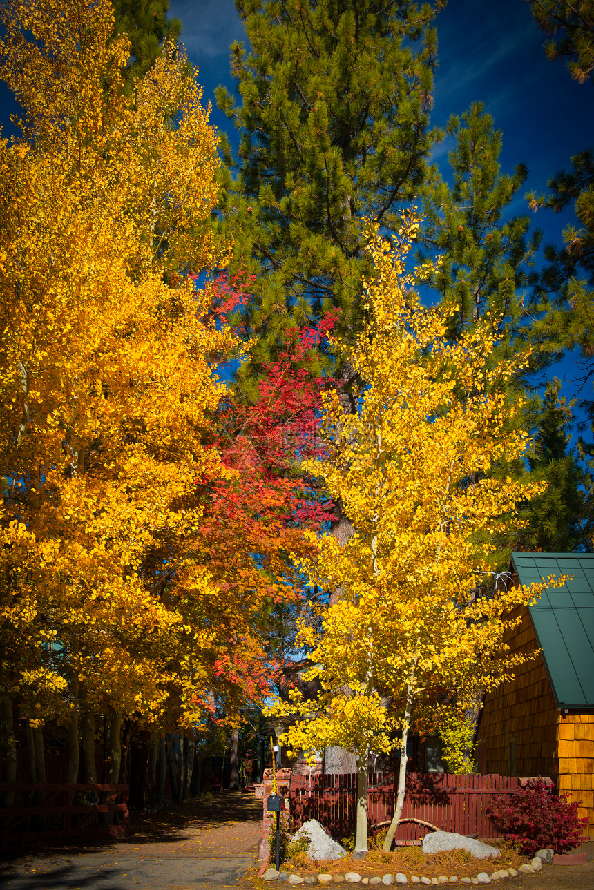
MULTIPOLYGON (((199 66, 204 99, 215 106, 216 85, 234 89, 229 45, 244 38, 233 0, 170 0, 169 12, 182 20, 182 40, 191 61, 199 66)), ((544 190, 549 176, 568 166, 572 154, 594 147, 594 85, 574 83, 563 62, 546 59, 545 36, 534 24, 525 0, 449 0, 436 24, 439 69, 433 121, 443 125, 471 102, 484 102, 503 133, 503 169, 511 172, 520 162, 529 167, 522 197, 511 208, 514 214, 524 213, 525 191, 544 190)), ((0 104, 3 96, 7 123, 5 90, 0 93, 0 104)), ((231 122, 216 107, 211 121, 233 138, 231 122)), ((7 129, 10 132, 10 125, 7 129)), ((443 174, 450 147, 446 140, 435 150, 443 174)), ((546 211, 534 216, 545 239, 552 241, 560 240, 563 222, 546 211)), ((566 376, 566 395, 574 392, 571 367, 567 363, 569 373, 563 368, 561 375, 566 376)))

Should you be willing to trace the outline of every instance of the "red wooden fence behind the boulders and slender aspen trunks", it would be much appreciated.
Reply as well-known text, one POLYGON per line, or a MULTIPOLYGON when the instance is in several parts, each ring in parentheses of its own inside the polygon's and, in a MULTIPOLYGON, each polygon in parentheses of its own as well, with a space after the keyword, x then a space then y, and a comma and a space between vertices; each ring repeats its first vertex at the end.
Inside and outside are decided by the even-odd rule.
MULTIPOLYGON (((485 815, 491 798, 511 794, 519 787, 513 776, 409 773, 403 819, 430 822, 443 831, 497 837, 498 831, 485 815)), ((332 837, 345 837, 354 829, 356 773, 346 775, 293 774, 289 783, 289 812, 295 829, 308 819, 317 819, 332 837)), ((392 818, 398 788, 394 776, 373 773, 367 792, 370 829, 392 818)), ((396 842, 414 844, 427 829, 414 822, 401 824, 396 842)))

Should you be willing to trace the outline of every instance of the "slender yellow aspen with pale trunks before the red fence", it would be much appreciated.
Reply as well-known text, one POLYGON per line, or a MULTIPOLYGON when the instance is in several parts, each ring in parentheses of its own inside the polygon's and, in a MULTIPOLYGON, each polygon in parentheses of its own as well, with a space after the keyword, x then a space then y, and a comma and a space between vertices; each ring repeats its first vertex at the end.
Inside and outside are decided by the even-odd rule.
POLYGON ((294 750, 341 745, 359 757, 355 854, 367 849, 367 764, 370 749, 400 751, 389 850, 402 813, 407 736, 411 725, 435 731, 448 714, 463 713, 513 676, 523 659, 503 635, 509 612, 530 603, 540 587, 471 591, 494 549, 492 535, 513 517, 533 484, 492 477, 493 465, 520 458, 528 436, 509 432, 521 405, 500 386, 512 362, 493 366, 490 320, 446 339, 439 309, 423 308, 412 287, 427 274, 406 271, 418 230, 405 214, 393 250, 370 231, 374 276, 366 284, 368 322, 354 344, 336 343, 362 380, 356 415, 338 396, 325 401, 327 459, 310 472, 340 498, 354 537, 338 546, 330 534, 319 554, 301 560, 312 584, 343 588, 323 613, 322 629, 303 627, 319 678, 317 702, 298 690, 274 712, 295 717, 284 735, 294 750))

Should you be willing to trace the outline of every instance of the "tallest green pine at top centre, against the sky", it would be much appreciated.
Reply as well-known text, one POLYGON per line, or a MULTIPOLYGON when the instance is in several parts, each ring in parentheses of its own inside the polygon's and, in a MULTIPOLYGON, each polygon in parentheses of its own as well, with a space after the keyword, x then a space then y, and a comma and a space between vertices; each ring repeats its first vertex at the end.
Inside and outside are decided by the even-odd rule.
POLYGON ((256 337, 241 384, 287 328, 340 311, 361 320, 364 220, 394 231, 419 194, 428 130, 435 7, 411 0, 236 0, 251 53, 232 46, 239 99, 216 101, 240 131, 221 201, 232 271, 256 276, 244 321, 256 337))

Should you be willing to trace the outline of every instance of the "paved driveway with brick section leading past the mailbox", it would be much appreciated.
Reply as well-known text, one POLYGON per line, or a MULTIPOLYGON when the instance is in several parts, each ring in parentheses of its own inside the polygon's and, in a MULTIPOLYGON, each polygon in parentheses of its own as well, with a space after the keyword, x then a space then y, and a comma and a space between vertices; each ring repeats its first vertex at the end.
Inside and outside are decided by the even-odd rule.
POLYGON ((200 890, 237 886, 256 862, 262 802, 227 793, 173 813, 136 818, 110 844, 16 855, 0 866, 6 890, 200 890))

